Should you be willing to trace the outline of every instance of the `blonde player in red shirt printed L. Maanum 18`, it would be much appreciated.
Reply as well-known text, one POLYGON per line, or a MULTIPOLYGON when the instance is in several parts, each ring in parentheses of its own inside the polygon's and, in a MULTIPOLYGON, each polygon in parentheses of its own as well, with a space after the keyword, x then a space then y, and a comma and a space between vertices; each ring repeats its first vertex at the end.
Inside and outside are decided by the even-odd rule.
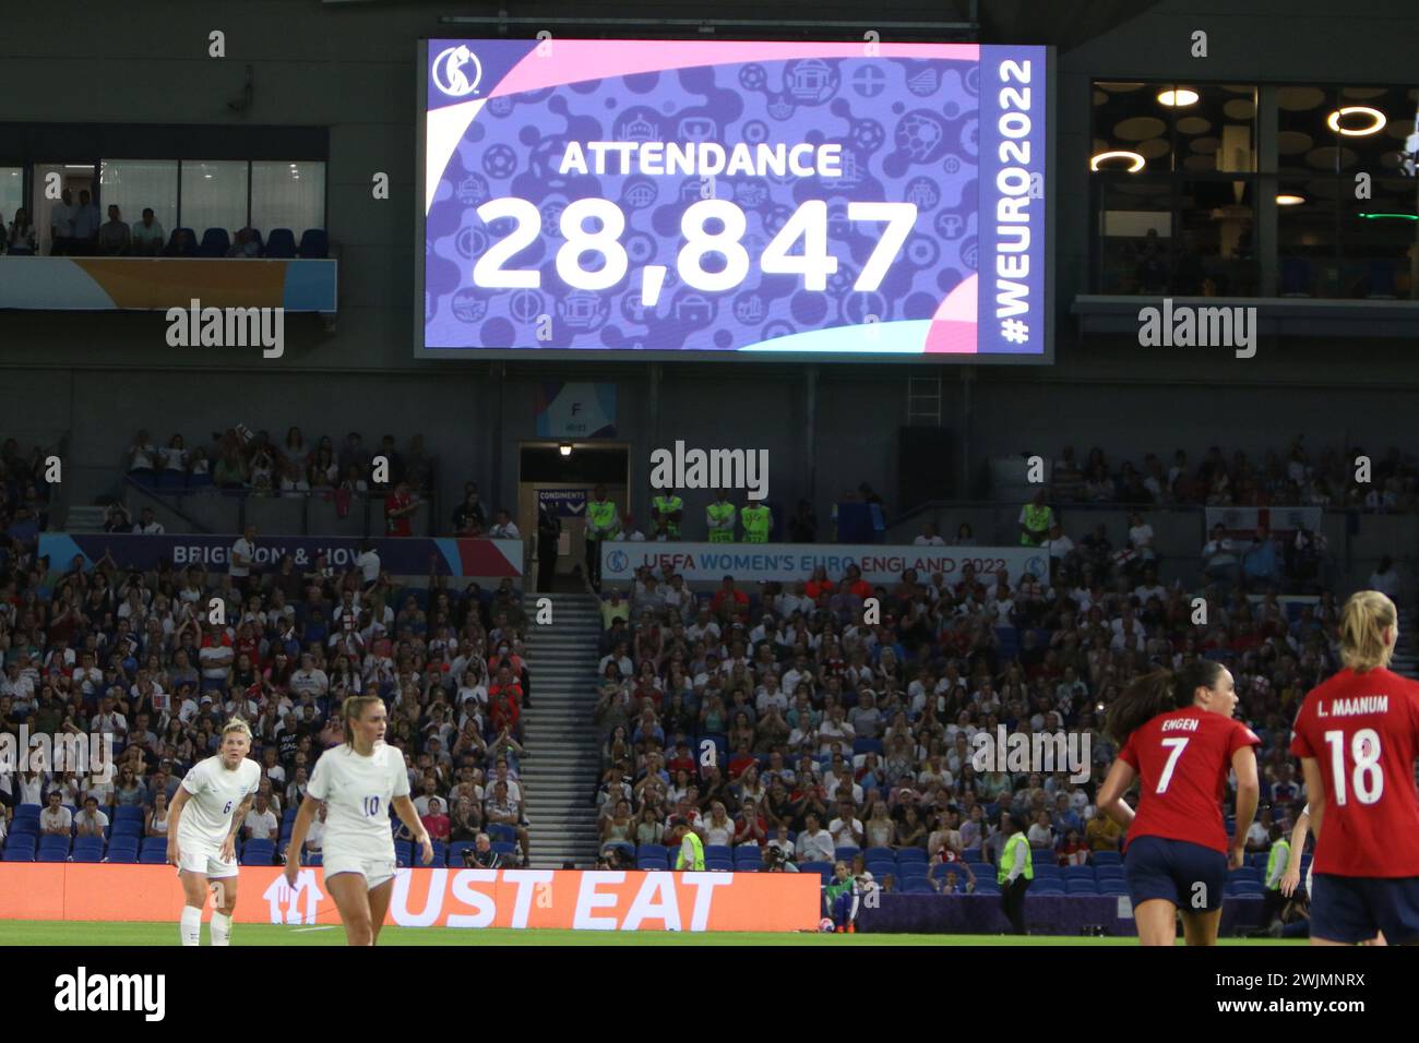
POLYGON ((1352 945, 1382 931, 1419 944, 1419 684, 1389 671, 1395 603, 1351 595, 1340 619, 1345 668, 1313 688, 1296 715, 1315 833, 1311 945, 1352 945))

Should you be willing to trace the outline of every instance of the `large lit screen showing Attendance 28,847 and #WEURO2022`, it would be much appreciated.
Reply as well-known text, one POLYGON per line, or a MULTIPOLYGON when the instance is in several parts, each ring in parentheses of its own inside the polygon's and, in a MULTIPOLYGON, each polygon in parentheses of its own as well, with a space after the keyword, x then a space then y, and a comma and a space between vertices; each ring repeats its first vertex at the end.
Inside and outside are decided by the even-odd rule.
POLYGON ((1043 47, 429 40, 426 353, 1050 353, 1043 47))

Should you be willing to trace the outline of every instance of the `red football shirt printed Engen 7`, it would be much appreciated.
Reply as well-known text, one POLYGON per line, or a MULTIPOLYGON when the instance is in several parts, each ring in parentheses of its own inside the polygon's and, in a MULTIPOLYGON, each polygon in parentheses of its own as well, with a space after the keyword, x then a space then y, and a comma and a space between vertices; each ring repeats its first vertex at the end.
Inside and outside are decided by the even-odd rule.
POLYGON ((1138 812, 1128 841, 1165 837, 1226 853, 1222 800, 1232 755, 1259 745, 1261 739, 1240 721, 1199 707, 1158 714, 1118 752, 1118 759, 1139 776, 1138 812))

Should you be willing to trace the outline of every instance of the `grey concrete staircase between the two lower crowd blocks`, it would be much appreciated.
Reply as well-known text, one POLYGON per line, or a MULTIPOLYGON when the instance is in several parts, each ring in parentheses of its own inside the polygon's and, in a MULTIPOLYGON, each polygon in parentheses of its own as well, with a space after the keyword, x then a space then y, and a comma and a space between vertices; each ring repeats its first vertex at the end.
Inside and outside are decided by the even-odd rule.
POLYGON ((561 868, 575 861, 592 868, 597 853, 593 795, 600 773, 596 663, 600 658, 600 605, 587 593, 528 593, 528 671, 532 707, 524 717, 524 809, 532 864, 561 868), (552 623, 536 623, 536 602, 552 599, 552 623))

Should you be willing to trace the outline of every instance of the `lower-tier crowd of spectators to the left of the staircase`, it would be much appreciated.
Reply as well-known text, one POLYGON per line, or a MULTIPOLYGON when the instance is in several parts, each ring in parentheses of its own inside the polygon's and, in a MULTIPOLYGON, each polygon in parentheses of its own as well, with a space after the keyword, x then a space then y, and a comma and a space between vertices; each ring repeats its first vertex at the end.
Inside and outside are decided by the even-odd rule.
POLYGON ((143 575, 111 556, 65 568, 33 551, 0 568, 0 731, 102 735, 116 754, 106 780, 99 765, 0 765, 0 833, 18 805, 57 803, 65 813, 47 810, 41 832, 104 830, 112 809, 132 805, 148 836, 165 836, 165 799, 240 717, 261 765, 245 836, 284 839, 315 759, 343 739, 342 700, 377 692, 431 836, 465 841, 480 864, 525 860, 518 778, 531 674, 511 582, 460 592, 431 576, 427 589, 394 590, 377 566, 369 582, 363 568, 322 559, 302 573, 289 558, 267 575, 241 572, 143 575), (210 622, 211 599, 224 623, 210 622))

